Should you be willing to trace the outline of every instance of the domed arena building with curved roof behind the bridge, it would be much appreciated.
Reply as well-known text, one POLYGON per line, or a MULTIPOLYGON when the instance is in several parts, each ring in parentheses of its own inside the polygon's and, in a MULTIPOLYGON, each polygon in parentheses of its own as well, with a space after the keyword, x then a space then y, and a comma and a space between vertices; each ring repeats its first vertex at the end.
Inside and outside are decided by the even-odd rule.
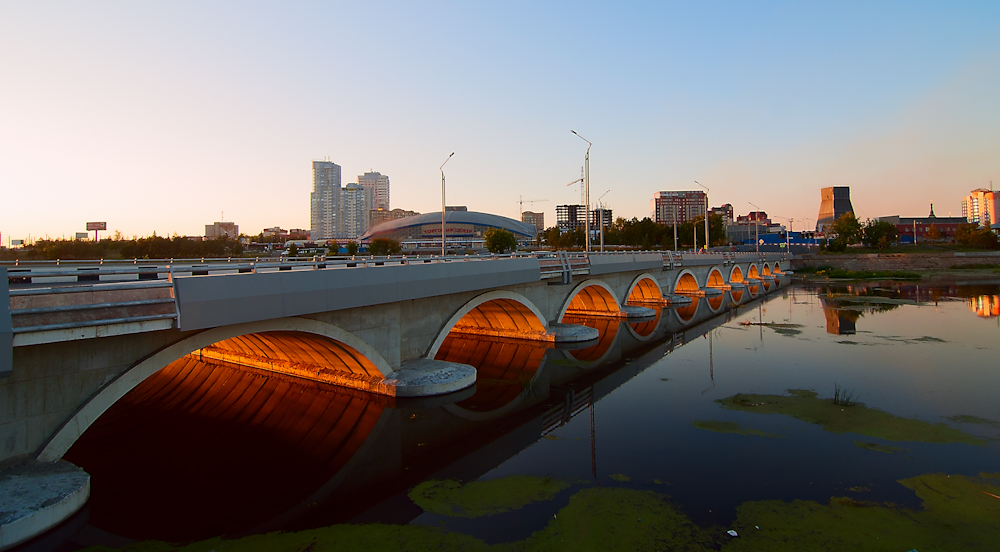
MULTIPOLYGON (((514 234, 520 245, 533 245, 537 232, 526 222, 475 211, 446 211, 445 233, 448 251, 481 251, 483 235, 489 228, 502 228, 514 234)), ((441 212, 424 213, 388 220, 369 228, 358 238, 371 243, 376 238, 396 240, 403 251, 441 251, 441 212)))

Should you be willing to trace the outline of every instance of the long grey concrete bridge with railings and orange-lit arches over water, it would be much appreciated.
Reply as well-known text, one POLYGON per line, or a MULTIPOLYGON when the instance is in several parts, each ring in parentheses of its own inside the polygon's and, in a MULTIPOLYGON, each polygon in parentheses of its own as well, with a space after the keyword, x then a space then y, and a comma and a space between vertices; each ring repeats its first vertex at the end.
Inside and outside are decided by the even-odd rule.
POLYGON ((456 337, 589 344, 598 331, 583 318, 628 319, 641 335, 659 323, 650 307, 703 298, 664 311, 690 323, 787 268, 781 254, 673 252, 5 263, 0 462, 60 460, 129 391, 195 360, 438 395, 477 379, 450 354, 456 337))

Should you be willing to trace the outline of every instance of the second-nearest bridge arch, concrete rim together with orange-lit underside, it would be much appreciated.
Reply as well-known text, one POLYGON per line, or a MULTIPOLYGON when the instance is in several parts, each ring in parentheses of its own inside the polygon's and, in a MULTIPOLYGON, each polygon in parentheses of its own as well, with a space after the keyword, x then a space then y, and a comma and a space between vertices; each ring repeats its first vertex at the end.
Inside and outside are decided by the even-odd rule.
POLYGON ((550 341, 545 316, 527 297, 497 290, 477 295, 445 322, 427 350, 434 358, 452 333, 550 341))

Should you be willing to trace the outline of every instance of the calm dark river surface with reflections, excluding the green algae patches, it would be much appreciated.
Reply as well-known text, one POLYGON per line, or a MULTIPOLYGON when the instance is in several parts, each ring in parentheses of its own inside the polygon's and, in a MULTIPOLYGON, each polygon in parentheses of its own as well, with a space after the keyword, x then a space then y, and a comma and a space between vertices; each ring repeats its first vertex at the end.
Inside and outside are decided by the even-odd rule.
POLYGON ((1000 424, 986 422, 1000 421, 1000 286, 734 295, 657 309, 639 323, 566 320, 601 331, 574 350, 450 337, 439 358, 476 366, 479 383, 431 400, 193 362, 161 372, 67 455, 93 477, 89 536, 79 540, 177 542, 350 521, 509 542, 544 528, 571 495, 595 485, 654 490, 697 524, 725 527, 746 501, 851 495, 920 508, 898 480, 1000 471, 1000 424), (944 423, 986 444, 833 433, 716 402, 788 389, 828 398, 836 386, 869 408, 944 423), (949 419, 963 415, 981 422, 949 419), (769 436, 693 425, 709 420, 769 436), (867 450, 859 440, 902 450, 867 450), (510 475, 571 484, 551 500, 478 518, 427 513, 408 496, 429 479, 510 475))

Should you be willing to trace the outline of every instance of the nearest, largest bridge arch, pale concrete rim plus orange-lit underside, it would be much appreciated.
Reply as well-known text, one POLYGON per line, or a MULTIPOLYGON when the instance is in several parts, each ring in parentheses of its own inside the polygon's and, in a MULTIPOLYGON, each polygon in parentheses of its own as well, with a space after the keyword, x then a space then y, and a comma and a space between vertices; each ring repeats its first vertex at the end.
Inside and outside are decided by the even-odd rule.
POLYGON ((335 383, 347 379, 373 387, 395 373, 385 358, 363 340, 318 320, 290 317, 212 328, 160 349, 108 382, 63 423, 37 459, 58 460, 128 392, 164 368, 192 358, 314 381, 335 383))

